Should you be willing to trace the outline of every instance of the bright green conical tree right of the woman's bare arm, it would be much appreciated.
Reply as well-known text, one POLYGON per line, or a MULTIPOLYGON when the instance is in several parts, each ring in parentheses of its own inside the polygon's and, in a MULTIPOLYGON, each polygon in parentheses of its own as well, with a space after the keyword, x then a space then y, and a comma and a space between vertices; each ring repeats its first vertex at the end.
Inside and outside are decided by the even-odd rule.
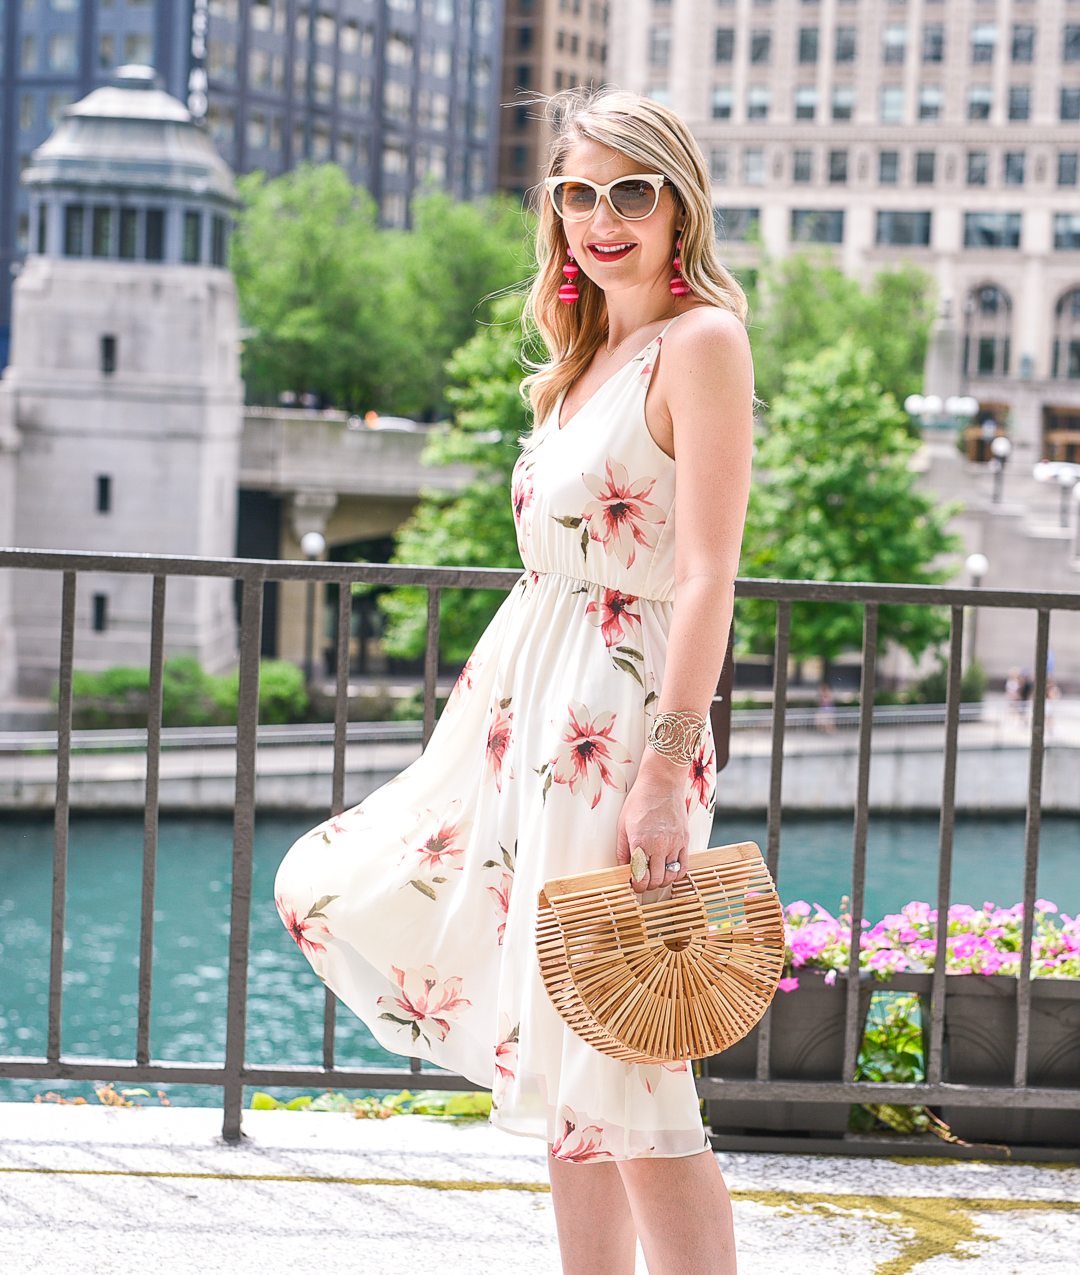
MULTIPOLYGON (((756 464, 743 541, 742 574, 780 580, 872 580, 936 584, 935 569, 959 550, 946 530, 952 507, 916 488, 918 442, 904 413, 873 377, 873 353, 843 337, 810 362, 787 368, 756 464)), ((742 599, 736 632, 745 648, 773 644, 773 603, 742 599)), ((927 607, 882 607, 879 640, 914 657, 945 635, 927 607)), ((862 640, 862 607, 798 603, 792 655, 835 658, 862 640)))

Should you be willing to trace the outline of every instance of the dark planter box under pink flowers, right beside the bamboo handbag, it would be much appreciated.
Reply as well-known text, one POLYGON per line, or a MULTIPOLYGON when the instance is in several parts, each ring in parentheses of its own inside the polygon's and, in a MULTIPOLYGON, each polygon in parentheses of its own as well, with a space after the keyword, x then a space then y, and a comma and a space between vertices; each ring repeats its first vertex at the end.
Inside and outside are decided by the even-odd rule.
MULTIPOLYGON (((830 987, 825 972, 798 970, 798 987, 778 992, 773 1001, 773 1080, 842 1080, 844 1066, 844 1011, 847 979, 838 975, 830 987)), ((859 1034, 866 1025, 870 997, 876 984, 859 986, 859 1034)), ((757 1074, 757 1034, 754 1030, 729 1049, 704 1060, 706 1076, 754 1080, 757 1074)), ((849 1103, 724 1102, 705 1104, 714 1133, 798 1132, 843 1137, 849 1103)))

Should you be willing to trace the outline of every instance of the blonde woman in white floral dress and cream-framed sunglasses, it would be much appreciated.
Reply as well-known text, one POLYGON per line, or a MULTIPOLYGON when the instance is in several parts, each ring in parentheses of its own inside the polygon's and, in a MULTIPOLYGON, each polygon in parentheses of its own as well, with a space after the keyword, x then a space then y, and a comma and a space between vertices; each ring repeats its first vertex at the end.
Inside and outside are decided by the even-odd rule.
POLYGON ((544 881, 630 863, 671 885, 708 844, 708 710, 750 483, 745 300, 710 186, 657 102, 574 92, 558 121, 514 470, 525 574, 423 756, 292 848, 282 917, 388 1049, 492 1089, 548 1144, 566 1275, 732 1275, 731 1206, 686 1065, 598 1053, 537 968, 544 881))

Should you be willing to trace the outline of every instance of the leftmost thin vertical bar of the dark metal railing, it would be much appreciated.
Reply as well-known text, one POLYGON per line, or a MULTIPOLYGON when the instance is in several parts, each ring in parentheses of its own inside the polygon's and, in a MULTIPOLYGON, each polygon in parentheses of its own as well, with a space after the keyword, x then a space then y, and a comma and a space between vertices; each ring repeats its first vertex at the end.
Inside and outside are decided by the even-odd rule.
POLYGON ((75 676, 74 571, 64 572, 60 604, 60 686, 56 704, 56 808, 52 825, 52 917, 48 952, 48 1040, 46 1058, 60 1061, 64 1011, 64 917, 68 904, 68 833, 71 802, 71 681, 75 676))

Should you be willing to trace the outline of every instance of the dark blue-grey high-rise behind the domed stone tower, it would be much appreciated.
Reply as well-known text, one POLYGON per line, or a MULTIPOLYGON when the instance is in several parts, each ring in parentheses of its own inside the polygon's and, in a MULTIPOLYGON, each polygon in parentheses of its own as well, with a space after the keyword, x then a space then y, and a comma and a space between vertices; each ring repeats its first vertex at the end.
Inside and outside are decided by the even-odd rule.
POLYGON ((237 172, 334 159, 405 224, 425 182, 495 189, 500 0, 9 0, 0 56, 0 365, 26 255, 19 173, 121 64, 157 69, 237 172))

